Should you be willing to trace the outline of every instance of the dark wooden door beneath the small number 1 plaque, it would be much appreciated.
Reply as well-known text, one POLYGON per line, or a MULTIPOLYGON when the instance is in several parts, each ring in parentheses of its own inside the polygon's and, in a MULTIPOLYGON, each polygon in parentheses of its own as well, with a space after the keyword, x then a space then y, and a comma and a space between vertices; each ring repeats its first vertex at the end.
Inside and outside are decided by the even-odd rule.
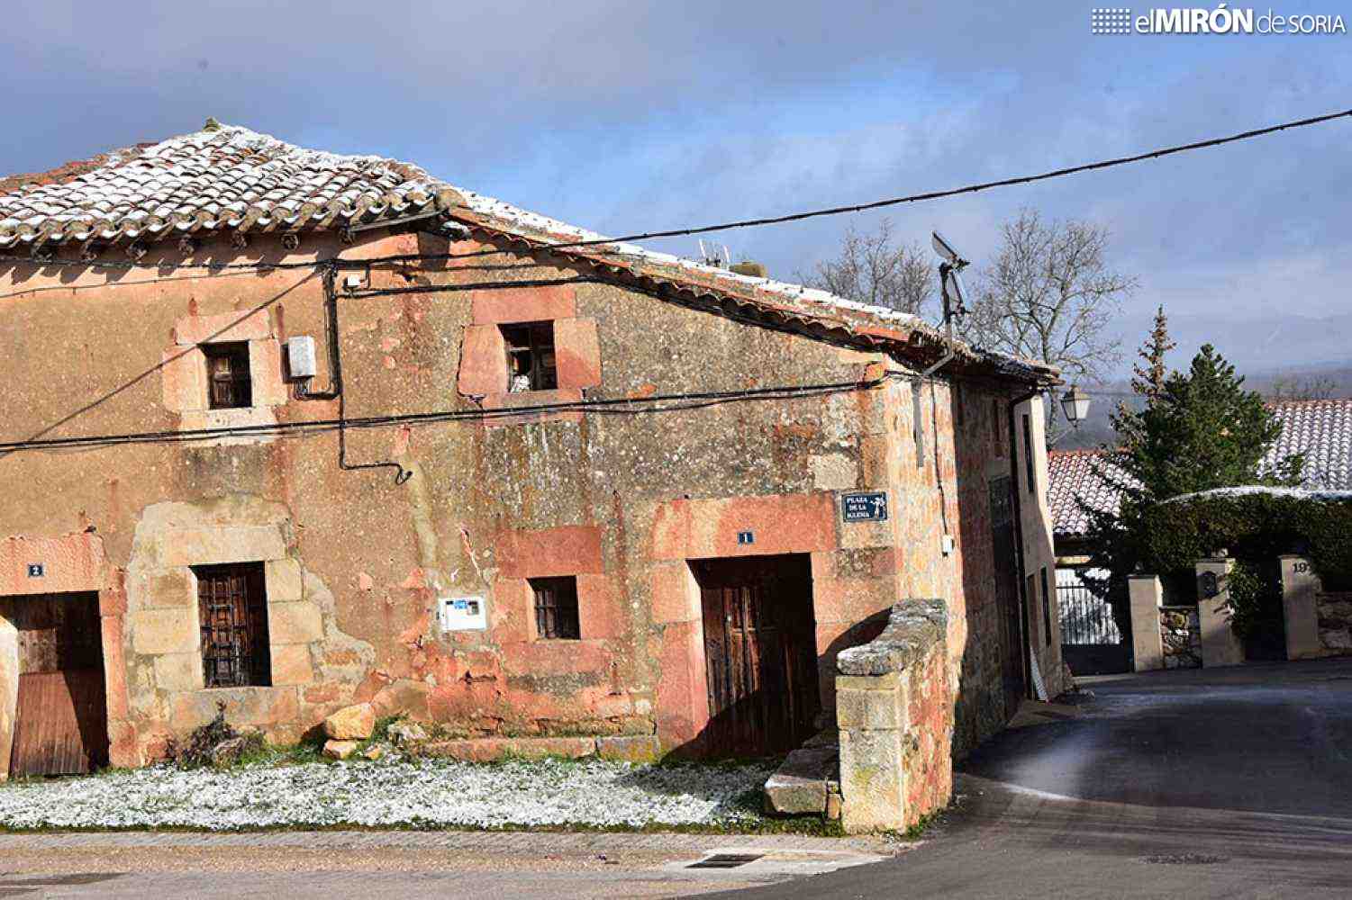
POLYGON ((808 557, 696 564, 708 677, 708 755, 796 749, 821 709, 808 557))

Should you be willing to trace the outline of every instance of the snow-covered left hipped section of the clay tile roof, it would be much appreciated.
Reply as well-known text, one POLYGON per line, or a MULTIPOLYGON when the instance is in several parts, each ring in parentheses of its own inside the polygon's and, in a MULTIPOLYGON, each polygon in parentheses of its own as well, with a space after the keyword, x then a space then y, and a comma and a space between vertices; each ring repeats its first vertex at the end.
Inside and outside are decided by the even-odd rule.
POLYGON ((446 186, 407 162, 208 126, 0 180, 0 247, 337 228, 437 211, 446 186))

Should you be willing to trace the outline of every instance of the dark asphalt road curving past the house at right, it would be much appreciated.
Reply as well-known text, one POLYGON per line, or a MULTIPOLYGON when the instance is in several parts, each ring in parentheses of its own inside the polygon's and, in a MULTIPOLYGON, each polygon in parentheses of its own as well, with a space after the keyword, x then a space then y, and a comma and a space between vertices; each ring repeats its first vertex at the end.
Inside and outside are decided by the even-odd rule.
POLYGON ((1352 659, 1091 689, 967 761, 921 847, 726 896, 1352 897, 1352 659))

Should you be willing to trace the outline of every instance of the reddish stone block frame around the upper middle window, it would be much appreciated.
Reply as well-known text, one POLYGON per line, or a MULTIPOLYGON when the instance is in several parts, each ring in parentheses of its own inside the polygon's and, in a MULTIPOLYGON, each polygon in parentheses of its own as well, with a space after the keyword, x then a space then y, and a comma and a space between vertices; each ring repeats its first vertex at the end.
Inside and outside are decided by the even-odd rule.
MULTIPOLYGON (((577 315, 572 284, 511 286, 476 291, 470 299, 470 323, 465 326, 456 391, 483 409, 553 407, 580 403, 584 392, 602 384, 600 341, 596 320, 577 315), (554 339, 554 374, 550 391, 511 391, 507 341, 503 326, 549 323, 554 339)), ((488 424, 523 422, 577 422, 577 409, 533 411, 499 416, 488 424)))

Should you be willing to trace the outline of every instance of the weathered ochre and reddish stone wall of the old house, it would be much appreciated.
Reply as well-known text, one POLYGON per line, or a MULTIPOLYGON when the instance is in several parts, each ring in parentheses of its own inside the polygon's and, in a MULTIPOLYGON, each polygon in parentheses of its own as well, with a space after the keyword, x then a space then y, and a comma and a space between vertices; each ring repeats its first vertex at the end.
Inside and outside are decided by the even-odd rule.
MULTIPOLYGON (((446 250, 445 241, 377 234, 356 247, 306 238, 289 255, 258 253, 303 261, 446 250)), ((160 253, 143 262, 184 262, 160 253)), ((220 243, 193 261, 250 258, 220 243)), ((376 269, 365 285, 437 292, 339 300, 349 418, 475 409, 457 391, 461 346, 475 303, 503 296, 502 284, 530 285, 511 292, 523 309, 546 291, 549 304, 596 323, 602 378, 588 399, 904 372, 877 354, 740 324, 527 257, 458 262, 376 269)), ((337 400, 288 397, 274 372, 280 342, 312 335, 320 376, 311 391, 333 386, 318 276, 160 274, 0 270, 0 372, 15 385, 0 395, 5 439, 211 424, 200 385, 185 374, 196 368, 164 361, 191 350, 189 339, 219 339, 233 322, 247 334, 224 336, 258 342, 264 361, 251 415, 337 418, 337 400)), ((466 736, 661 727, 679 747, 696 736, 706 703, 698 595, 684 561, 737 553, 811 554, 827 711, 841 647, 876 634, 898 596, 945 597, 946 665, 961 682, 963 732, 979 739, 1010 712, 995 703, 1002 650, 991 642, 999 619, 986 492, 1009 466, 1007 451, 994 457, 991 404, 1013 386, 925 385, 922 465, 913 389, 890 381, 679 412, 349 430, 347 462, 396 461, 414 473, 402 486, 391 469, 341 469, 333 431, 16 453, 0 459, 0 534, 101 539, 110 728, 122 765, 153 758, 218 699, 274 739, 369 700, 466 736), (890 520, 842 524, 838 497, 850 489, 888 491, 890 520), (735 532, 746 527, 756 545, 740 549, 735 532), (957 538, 948 555, 945 532, 957 538), (191 566, 231 559, 268 572, 270 688, 201 689, 191 566), (579 577, 580 642, 533 639, 526 580, 560 566, 579 577), (484 597, 489 630, 443 632, 439 596, 484 597)), ((0 654, 4 639, 0 630, 0 654)))

